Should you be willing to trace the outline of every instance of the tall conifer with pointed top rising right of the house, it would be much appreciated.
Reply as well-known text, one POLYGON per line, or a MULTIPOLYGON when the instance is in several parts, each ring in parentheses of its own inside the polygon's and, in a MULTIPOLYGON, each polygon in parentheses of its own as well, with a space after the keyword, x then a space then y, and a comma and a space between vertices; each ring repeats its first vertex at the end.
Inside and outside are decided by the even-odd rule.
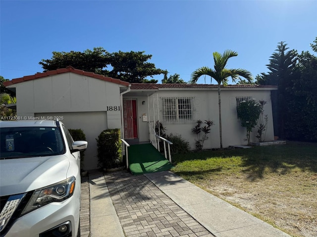
POLYGON ((286 88, 290 85, 292 72, 297 61, 296 50, 288 50, 287 44, 281 41, 277 44, 277 49, 270 56, 267 69, 269 72, 262 73, 257 77, 257 83, 264 85, 277 85, 278 90, 272 91, 272 113, 274 123, 274 135, 284 138, 284 123, 286 119, 286 88))

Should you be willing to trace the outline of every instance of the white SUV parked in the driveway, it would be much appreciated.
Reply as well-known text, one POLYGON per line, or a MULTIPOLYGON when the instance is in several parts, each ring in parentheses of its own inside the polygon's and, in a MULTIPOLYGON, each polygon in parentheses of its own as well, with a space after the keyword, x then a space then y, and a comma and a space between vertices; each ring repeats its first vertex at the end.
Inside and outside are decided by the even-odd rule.
POLYGON ((1 237, 80 236, 86 148, 60 121, 0 121, 1 237))

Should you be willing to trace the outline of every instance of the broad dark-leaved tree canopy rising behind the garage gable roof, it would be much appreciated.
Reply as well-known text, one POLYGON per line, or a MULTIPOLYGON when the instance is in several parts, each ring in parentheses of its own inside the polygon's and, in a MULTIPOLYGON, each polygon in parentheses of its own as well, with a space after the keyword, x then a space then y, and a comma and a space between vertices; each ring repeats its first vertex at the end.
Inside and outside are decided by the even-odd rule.
POLYGON ((150 54, 140 52, 114 52, 109 53, 103 47, 84 52, 53 52, 51 59, 42 59, 39 62, 44 72, 72 66, 87 72, 101 74, 106 77, 120 79, 131 83, 157 83, 154 75, 166 74, 166 70, 157 69, 155 64, 147 62, 152 58, 150 54), (112 70, 106 70, 108 66, 112 70))

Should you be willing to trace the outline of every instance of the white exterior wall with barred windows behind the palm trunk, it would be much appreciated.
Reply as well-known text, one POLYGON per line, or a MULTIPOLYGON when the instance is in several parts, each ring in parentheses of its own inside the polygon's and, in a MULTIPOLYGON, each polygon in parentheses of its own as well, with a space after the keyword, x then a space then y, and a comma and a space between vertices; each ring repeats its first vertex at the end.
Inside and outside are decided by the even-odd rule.
MULTIPOLYGON (((204 149, 219 148, 219 115, 218 115, 218 92, 212 90, 163 90, 159 91, 160 101, 160 121, 166 127, 166 134, 179 134, 187 140, 192 150, 195 150, 196 134, 191 132, 195 127, 196 120, 212 120, 214 125, 211 126, 211 132, 208 134, 209 139, 204 143, 204 149), (194 117, 192 121, 162 121, 161 98, 162 97, 194 97, 194 117)), ((222 145, 246 145, 246 128, 241 126, 237 118, 236 97, 248 96, 258 100, 265 100, 264 114, 268 115, 268 124, 265 141, 274 140, 273 119, 271 110, 270 90, 221 90, 221 121, 222 121, 222 145)), ((256 128, 251 135, 251 142, 257 142, 256 128)))

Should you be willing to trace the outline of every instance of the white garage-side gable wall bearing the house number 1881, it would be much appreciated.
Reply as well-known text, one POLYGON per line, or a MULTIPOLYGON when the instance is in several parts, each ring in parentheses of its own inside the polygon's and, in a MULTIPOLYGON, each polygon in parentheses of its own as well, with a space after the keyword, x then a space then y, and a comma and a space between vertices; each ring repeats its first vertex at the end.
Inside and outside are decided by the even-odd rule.
POLYGON ((85 169, 97 168, 98 135, 108 128, 121 128, 119 84, 63 73, 15 84, 17 116, 25 119, 41 116, 63 117, 67 128, 84 130, 89 142, 85 169))

